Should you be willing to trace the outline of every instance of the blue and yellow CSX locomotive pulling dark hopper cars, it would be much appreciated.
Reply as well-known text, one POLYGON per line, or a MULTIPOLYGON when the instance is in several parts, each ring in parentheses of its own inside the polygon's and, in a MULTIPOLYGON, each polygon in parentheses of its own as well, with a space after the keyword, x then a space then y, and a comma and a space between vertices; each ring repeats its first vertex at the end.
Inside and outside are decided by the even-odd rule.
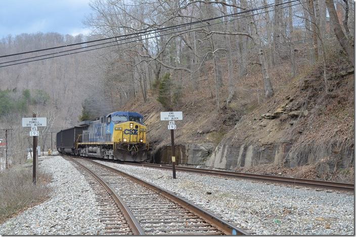
POLYGON ((61 130, 57 133, 57 150, 63 154, 145 162, 146 129, 140 113, 116 111, 61 130))

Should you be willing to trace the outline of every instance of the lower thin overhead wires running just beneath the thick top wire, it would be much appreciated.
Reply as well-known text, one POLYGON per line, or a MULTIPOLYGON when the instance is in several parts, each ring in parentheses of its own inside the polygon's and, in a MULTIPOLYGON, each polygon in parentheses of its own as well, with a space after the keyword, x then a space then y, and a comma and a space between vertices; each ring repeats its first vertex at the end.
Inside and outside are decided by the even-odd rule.
MULTIPOLYGON (((279 4, 279 5, 284 5, 284 4, 288 4, 288 3, 292 3, 292 2, 297 2, 299 0, 293 0, 293 1, 289 1, 289 2, 284 2, 282 4, 279 4)), ((291 6, 286 6, 286 7, 283 7, 281 9, 284 9, 284 8, 287 8, 287 7, 293 7, 293 6, 296 6, 296 5, 300 5, 302 3, 298 3, 298 4, 294 4, 294 5, 291 5, 291 6)), ((269 7, 272 7, 272 6, 275 6, 275 5, 266 5, 266 6, 263 6, 263 7, 258 7, 258 8, 255 8, 255 9, 251 9, 251 10, 248 10, 248 11, 256 11, 257 10, 260 10, 260 9, 263 9, 263 8, 269 8, 269 7)), ((216 24, 221 24, 221 23, 225 23, 225 22, 231 22, 231 21, 234 21, 234 20, 239 20, 239 19, 242 19, 242 18, 247 18, 247 17, 251 17, 251 16, 255 16, 255 15, 260 15, 260 14, 265 14, 265 13, 268 13, 268 12, 272 12, 272 11, 275 11, 275 10, 270 10, 270 11, 264 11, 264 12, 260 12, 260 13, 255 13, 255 14, 251 14, 251 15, 248 15, 248 16, 243 16, 243 17, 239 17, 239 18, 235 18, 235 19, 231 19, 231 20, 226 20, 226 21, 220 21, 220 22, 216 22, 216 23, 212 23, 212 24, 209 24, 209 25, 205 25, 205 26, 212 26, 212 25, 216 25, 216 24)), ((243 13, 246 13, 246 12, 240 12, 238 14, 243 14, 243 13)), ((230 15, 236 15, 236 14, 230 14, 230 15)), ((229 15, 225 15, 223 17, 227 17, 229 15)), ((219 17, 221 18, 221 17, 219 17)), ((215 19, 215 18, 211 18, 211 19, 215 19)), ((210 20, 211 20, 210 19, 210 20)), ((203 21, 208 21, 208 19, 205 19, 205 20, 202 20, 201 22, 203 21)), ((180 25, 176 25, 174 26, 175 28, 180 28, 182 26, 180 25)), ((13 64, 8 64, 8 65, 3 65, 3 66, 0 66, 0 67, 7 67, 7 66, 12 66, 12 65, 18 65, 18 64, 23 64, 23 63, 28 63, 28 62, 35 62, 35 61, 40 61, 40 60, 44 60, 44 59, 51 59, 51 58, 56 58, 56 57, 61 57, 61 56, 66 56, 66 55, 73 55, 73 54, 77 54, 77 53, 82 53, 82 52, 87 52, 87 51, 92 51, 92 50, 97 50, 97 49, 104 49, 104 48, 108 48, 108 47, 113 47, 113 46, 119 46, 119 45, 123 45, 123 44, 129 44, 129 43, 135 43, 135 42, 138 42, 138 41, 143 41, 143 40, 146 40, 146 39, 151 39, 151 38, 156 38, 156 37, 162 37, 162 36, 166 36, 166 35, 170 35, 170 34, 176 34, 176 33, 182 33, 182 32, 185 32, 185 31, 191 31, 193 29, 198 29, 198 28, 202 28, 203 26, 197 26, 195 28, 190 28, 190 29, 184 29, 184 30, 181 30, 181 31, 174 31, 174 32, 169 32, 169 33, 166 33, 166 34, 160 34, 160 35, 156 35, 156 36, 151 36, 151 37, 145 37, 145 38, 140 38, 140 39, 136 39, 135 41, 129 41, 129 42, 124 42, 124 43, 120 43, 120 44, 114 44, 114 45, 109 45, 109 46, 104 46, 104 47, 98 47, 98 48, 94 48, 94 49, 88 49, 88 50, 82 50, 82 51, 78 51, 78 52, 73 52, 73 53, 68 53, 68 54, 61 54, 61 55, 57 55, 57 56, 52 56, 52 57, 46 57, 46 58, 41 58, 41 59, 36 59, 36 60, 30 60, 30 61, 25 61, 25 62, 20 62, 20 63, 13 63, 13 64)), ((158 31, 158 32, 155 32, 155 33, 160 33, 160 32, 164 32, 164 31, 168 31, 168 30, 162 30, 162 31, 158 31)), ((144 35, 139 35, 139 36, 148 36, 150 35, 151 33, 149 34, 144 34, 144 35)), ((132 35, 132 34, 131 34, 132 35)), ((85 46, 85 47, 80 47, 80 48, 76 48, 76 49, 70 49, 70 50, 65 50, 65 51, 61 51, 61 52, 54 52, 54 53, 50 53, 50 54, 44 54, 44 55, 38 55, 38 56, 33 56, 33 57, 28 57, 28 58, 23 58, 23 59, 17 59, 17 60, 12 60, 12 61, 7 61, 7 62, 2 62, 0 64, 6 64, 6 63, 11 63, 11 62, 17 62, 17 61, 23 61, 23 60, 28 60, 28 59, 33 59, 33 58, 38 58, 38 57, 44 57, 44 56, 49 56, 49 55, 54 55, 54 54, 60 54, 60 53, 65 53, 65 52, 70 52, 70 51, 75 51, 75 50, 81 50, 81 49, 86 49, 86 48, 91 48, 91 47, 95 47, 95 46, 100 46, 100 45, 105 45, 105 44, 112 44, 112 43, 115 43, 115 42, 120 42, 120 41, 125 41, 127 39, 132 39, 132 38, 137 38, 139 36, 131 36, 129 38, 123 38, 123 39, 118 39, 116 41, 111 41, 111 42, 106 42, 106 43, 101 43, 101 44, 96 44, 96 45, 91 45, 91 46, 85 46)), ((82 43, 84 44, 84 43, 82 43)), ((37 51, 38 52, 38 51, 37 51)), ((25 52, 26 53, 26 52, 25 52)))

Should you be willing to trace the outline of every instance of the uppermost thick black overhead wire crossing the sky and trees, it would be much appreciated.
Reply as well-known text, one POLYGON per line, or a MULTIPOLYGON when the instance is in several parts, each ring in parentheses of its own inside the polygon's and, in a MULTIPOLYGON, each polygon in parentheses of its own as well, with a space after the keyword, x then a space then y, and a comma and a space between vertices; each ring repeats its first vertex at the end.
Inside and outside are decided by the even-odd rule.
MULTIPOLYGON (((88 43, 94 43, 94 42, 100 42, 100 41, 106 41, 108 39, 121 38, 121 37, 132 36, 132 35, 140 36, 140 34, 148 33, 148 32, 152 33, 153 31, 162 32, 162 31, 166 31, 166 30, 169 30, 169 29, 175 29, 175 28, 194 25, 194 24, 198 24, 198 23, 211 21, 211 20, 216 20, 216 19, 220 19, 220 18, 236 16, 236 15, 240 15, 240 14, 243 14, 243 13, 248 13, 248 12, 252 12, 252 11, 257 11, 257 10, 269 8, 271 6, 280 6, 280 5, 284 5, 284 4, 287 4, 287 3, 293 3, 293 2, 298 2, 298 1, 299 0, 292 0, 292 1, 289 1, 289 2, 285 2, 285 3, 280 3, 280 4, 277 4, 277 5, 269 4, 269 5, 266 5, 266 6, 262 6, 262 7, 258 7, 258 8, 254 8, 254 9, 250 9, 250 10, 246 10, 246 11, 242 11, 242 12, 239 12, 239 13, 229 14, 229 15, 225 15, 225 16, 208 18, 208 19, 204 19, 204 20, 200 20, 200 21, 194 21, 194 22, 190 22, 190 23, 183 23, 183 24, 179 24, 179 25, 167 26, 167 27, 156 28, 156 29, 151 29, 151 30, 144 30, 144 31, 141 31, 141 32, 130 33, 130 34, 125 34, 125 35, 119 35, 119 36, 114 36, 114 37, 108 37, 108 38, 103 38, 103 39, 96 39, 94 41, 87 41, 87 42, 82 42, 82 43, 76 43, 76 44, 70 44, 70 45, 64 45, 64 46, 58 46, 58 47, 52 47, 52 48, 46 48, 46 49, 40 49, 40 50, 33 50, 33 51, 27 51, 27 52, 22 52, 22 53, 16 53, 16 54, 3 55, 3 56, 0 56, 0 58, 16 56, 16 55, 22 55, 22 54, 29 54, 29 53, 36 53, 36 52, 41 52, 41 51, 59 49, 59 48, 64 48, 64 47, 70 47, 70 46, 76 46, 76 45, 82 45, 82 44, 88 44, 88 43)), ((117 41, 113 41, 113 42, 117 42, 117 41)), ((104 43, 104 44, 109 44, 109 43, 113 43, 113 42, 107 42, 107 43, 104 43)), ((93 47, 93 46, 90 46, 90 47, 93 47)), ((83 48, 86 48, 86 47, 83 47, 83 48)), ((58 53, 60 53, 60 52, 58 52, 58 53)))

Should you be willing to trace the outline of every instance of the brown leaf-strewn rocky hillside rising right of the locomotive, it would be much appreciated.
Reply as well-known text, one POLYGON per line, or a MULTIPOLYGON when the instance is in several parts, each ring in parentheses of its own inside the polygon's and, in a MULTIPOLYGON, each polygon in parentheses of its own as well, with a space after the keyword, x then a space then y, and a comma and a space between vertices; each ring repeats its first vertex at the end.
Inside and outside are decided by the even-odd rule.
MULTIPOLYGON (((263 100, 263 89, 256 86, 261 76, 255 70, 236 83, 234 100, 219 109, 210 92, 213 79, 207 66, 200 90, 185 94, 176 108, 184 114, 174 133, 179 163, 353 182, 353 68, 342 55, 328 62, 329 93, 322 65, 301 68, 294 78, 281 65, 272 75, 274 85, 279 85, 274 97, 263 100)), ((164 110, 155 96, 125 109, 144 114, 152 159, 168 163, 170 133, 167 122, 160 121, 164 110)))

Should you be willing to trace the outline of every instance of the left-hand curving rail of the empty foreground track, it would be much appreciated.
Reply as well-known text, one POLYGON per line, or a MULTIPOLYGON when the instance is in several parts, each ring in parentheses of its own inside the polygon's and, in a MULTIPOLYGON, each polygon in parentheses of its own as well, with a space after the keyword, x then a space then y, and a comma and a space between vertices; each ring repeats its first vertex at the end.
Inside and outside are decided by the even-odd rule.
MULTIPOLYGON (((115 201, 116 205, 118 206, 118 208, 121 210, 122 214, 124 215, 125 220, 127 221, 127 224, 130 226, 131 231, 134 235, 145 235, 146 234, 145 231, 142 229, 139 221, 136 219, 136 217, 131 212, 131 210, 127 207, 127 205, 123 202, 123 200, 120 198, 120 196, 115 192, 115 190, 107 182, 105 182, 102 178, 100 178, 97 174, 95 174, 90 169, 86 168, 79 162, 75 161, 75 159, 73 159, 72 157, 70 157, 70 156, 66 156, 66 157, 68 157, 75 164, 79 165, 85 171, 90 173, 108 191, 108 193, 110 194, 110 196, 115 201)), ((76 159, 82 159, 82 158, 76 158, 76 159)))

